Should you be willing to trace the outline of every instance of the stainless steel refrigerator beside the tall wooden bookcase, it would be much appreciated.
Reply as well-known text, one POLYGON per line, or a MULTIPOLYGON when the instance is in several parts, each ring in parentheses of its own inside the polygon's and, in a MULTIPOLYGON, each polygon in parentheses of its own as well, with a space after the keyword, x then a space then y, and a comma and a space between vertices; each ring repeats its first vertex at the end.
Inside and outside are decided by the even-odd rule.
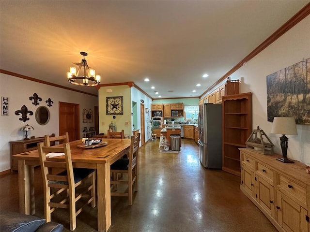
POLYGON ((199 159, 205 168, 222 168, 222 104, 199 105, 199 159))

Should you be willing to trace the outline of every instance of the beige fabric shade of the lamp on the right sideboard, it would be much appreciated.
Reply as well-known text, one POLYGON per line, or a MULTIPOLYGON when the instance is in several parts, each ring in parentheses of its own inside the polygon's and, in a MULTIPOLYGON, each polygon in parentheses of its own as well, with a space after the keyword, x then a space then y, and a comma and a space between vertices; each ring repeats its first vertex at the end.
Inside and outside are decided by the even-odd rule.
POLYGON ((274 117, 271 133, 297 135, 294 117, 274 117))

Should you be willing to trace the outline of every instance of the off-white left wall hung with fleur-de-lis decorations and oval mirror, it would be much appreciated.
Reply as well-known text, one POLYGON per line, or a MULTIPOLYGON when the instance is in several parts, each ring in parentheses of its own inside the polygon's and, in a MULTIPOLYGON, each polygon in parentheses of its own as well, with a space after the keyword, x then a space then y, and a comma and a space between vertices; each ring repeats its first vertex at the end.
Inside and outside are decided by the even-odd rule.
MULTIPOLYGON (((83 87, 81 87, 82 90, 83 87)), ((9 116, 0 116, 0 172, 11 168, 10 144, 9 141, 23 139, 24 132, 19 129, 27 123, 33 126, 34 131, 28 132, 28 137, 42 137, 45 134, 59 133, 58 104, 59 102, 69 102, 79 104, 80 109, 80 137, 82 137, 83 127, 93 127, 94 123, 82 123, 82 110, 92 109, 98 105, 98 98, 78 93, 63 88, 53 87, 38 82, 10 76, 0 73, 0 96, 9 98, 9 116), (33 105, 29 100, 34 93, 37 93, 42 101, 39 105, 33 105), (50 98, 54 103, 51 107, 47 106, 47 99, 50 98), (16 110, 26 105, 28 110, 33 112, 28 121, 23 122, 15 115, 16 110), (47 106, 50 112, 50 120, 46 125, 39 125, 35 120, 35 111, 39 106, 47 106)))

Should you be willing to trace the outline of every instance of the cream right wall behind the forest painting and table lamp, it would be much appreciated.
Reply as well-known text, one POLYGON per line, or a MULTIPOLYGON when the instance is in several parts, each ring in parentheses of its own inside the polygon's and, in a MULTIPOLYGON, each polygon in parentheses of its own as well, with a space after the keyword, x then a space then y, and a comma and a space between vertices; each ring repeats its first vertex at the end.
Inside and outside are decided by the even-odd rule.
MULTIPOLYGON (((310 15, 231 75, 241 80, 240 92, 252 92, 252 128, 259 126, 282 154, 279 134, 271 134, 267 121, 266 76, 310 58, 310 15)), ((288 135, 288 158, 310 163, 310 125, 297 125, 298 135, 288 135)))

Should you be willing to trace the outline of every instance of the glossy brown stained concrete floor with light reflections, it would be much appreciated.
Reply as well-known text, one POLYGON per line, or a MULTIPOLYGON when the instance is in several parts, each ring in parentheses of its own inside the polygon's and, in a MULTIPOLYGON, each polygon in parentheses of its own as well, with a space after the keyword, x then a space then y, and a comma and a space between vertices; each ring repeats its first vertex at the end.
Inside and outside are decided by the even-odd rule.
MULTIPOLYGON (((160 153, 159 139, 140 147, 139 191, 132 206, 112 197, 109 232, 276 232, 263 213, 241 192, 240 177, 202 167, 198 146, 182 140, 179 153, 160 153)), ((40 168, 35 168, 36 213, 43 214, 40 168)), ((0 179, 1 209, 18 212, 17 173, 0 179)), ((98 180, 100 181, 100 180, 98 180)), ((97 208, 78 215, 76 232, 95 232, 97 208)), ((66 210, 52 220, 69 231, 66 210)))

